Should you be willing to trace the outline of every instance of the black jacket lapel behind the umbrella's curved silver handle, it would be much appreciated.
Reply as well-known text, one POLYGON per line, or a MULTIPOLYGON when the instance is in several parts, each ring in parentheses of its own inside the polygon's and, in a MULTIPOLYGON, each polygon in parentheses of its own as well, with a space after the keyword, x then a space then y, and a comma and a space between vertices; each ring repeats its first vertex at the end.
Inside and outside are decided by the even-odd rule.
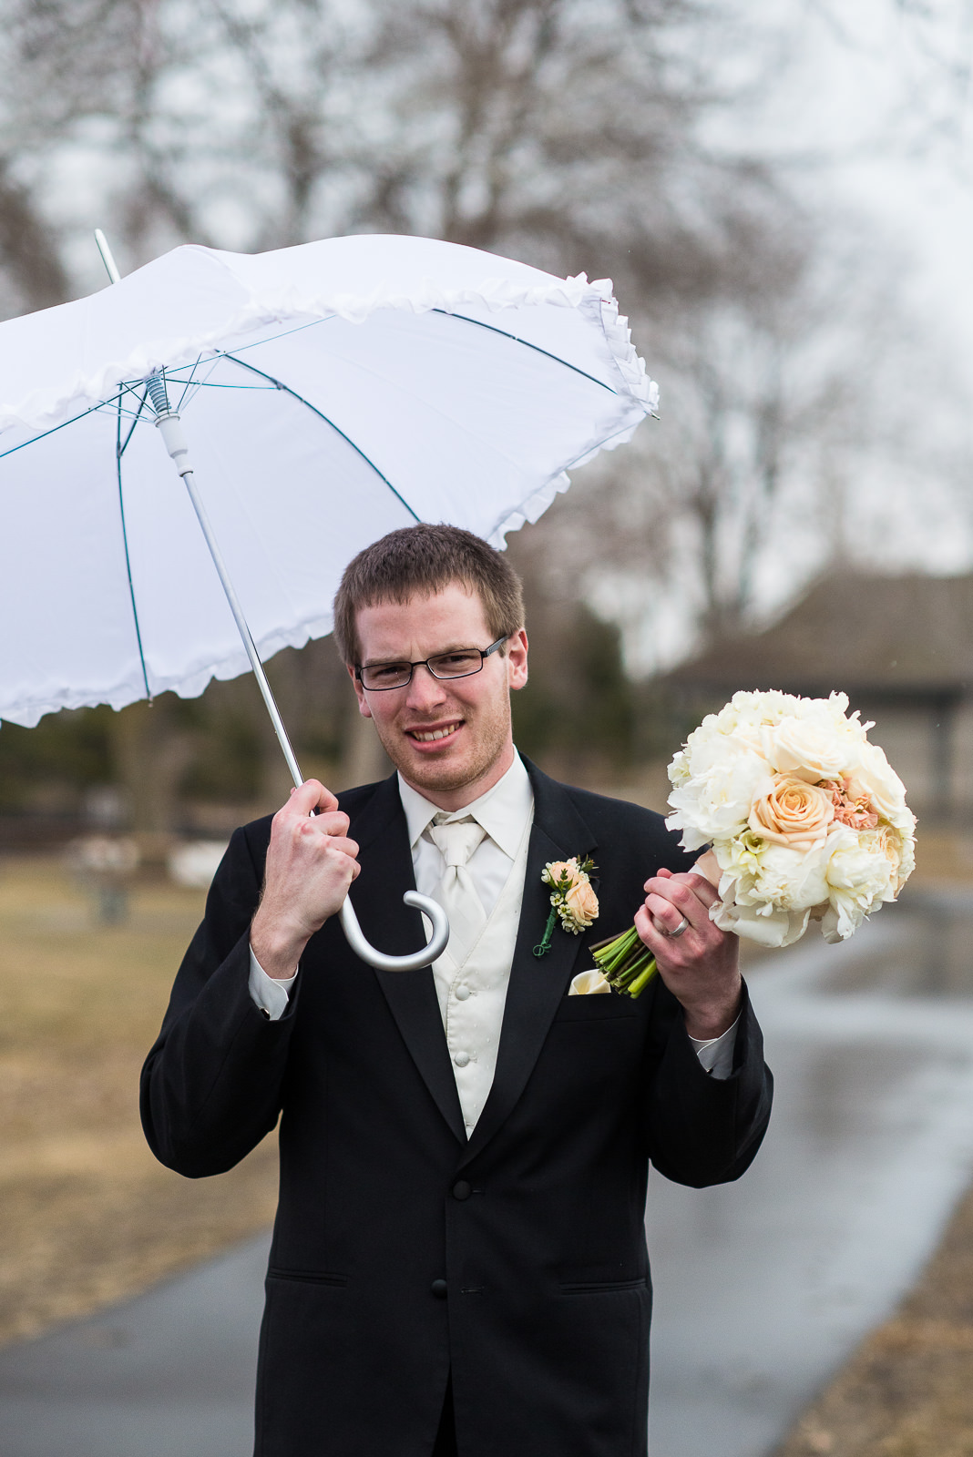
MULTIPOLYGON (((366 937, 380 951, 403 956, 425 940, 422 916, 402 903, 415 890, 412 855, 398 779, 392 775, 355 816, 348 833, 358 841, 363 870, 351 890, 351 902, 366 937)), ((433 970, 380 972, 374 975, 385 992, 419 1075, 456 1138, 466 1142, 463 1115, 449 1059, 443 1017, 436 997, 433 970)))

